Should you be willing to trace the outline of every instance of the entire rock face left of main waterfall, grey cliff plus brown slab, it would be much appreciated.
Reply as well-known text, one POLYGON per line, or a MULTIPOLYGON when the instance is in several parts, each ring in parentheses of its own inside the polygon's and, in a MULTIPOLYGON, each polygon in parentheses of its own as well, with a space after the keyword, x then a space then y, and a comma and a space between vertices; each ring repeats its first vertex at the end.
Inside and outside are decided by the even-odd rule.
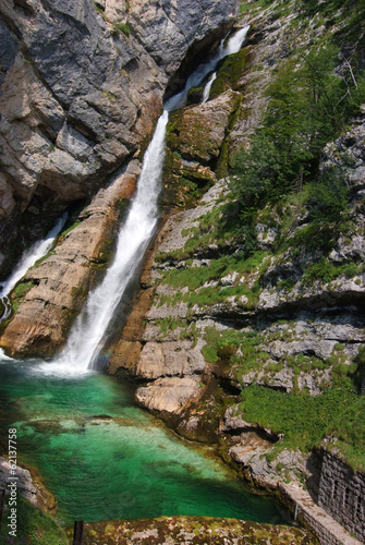
POLYGON ((95 269, 110 257, 104 246, 106 240, 112 246, 118 207, 133 191, 133 157, 148 142, 169 78, 186 55, 193 62, 203 46, 214 47, 236 7, 236 0, 0 7, 3 272, 22 237, 39 237, 65 207, 96 194, 80 225, 28 272, 24 303, 2 339, 12 353, 50 354, 63 342, 95 269), (118 168, 124 174, 110 179, 118 168), (100 187, 107 189, 97 194, 100 187))

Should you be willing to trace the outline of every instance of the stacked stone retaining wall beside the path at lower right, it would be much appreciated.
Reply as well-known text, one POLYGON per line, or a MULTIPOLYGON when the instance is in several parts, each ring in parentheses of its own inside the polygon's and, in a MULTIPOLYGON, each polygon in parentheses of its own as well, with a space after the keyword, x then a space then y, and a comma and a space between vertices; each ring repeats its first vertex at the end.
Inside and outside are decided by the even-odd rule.
POLYGON ((318 504, 365 542, 365 474, 329 452, 324 455, 318 504))

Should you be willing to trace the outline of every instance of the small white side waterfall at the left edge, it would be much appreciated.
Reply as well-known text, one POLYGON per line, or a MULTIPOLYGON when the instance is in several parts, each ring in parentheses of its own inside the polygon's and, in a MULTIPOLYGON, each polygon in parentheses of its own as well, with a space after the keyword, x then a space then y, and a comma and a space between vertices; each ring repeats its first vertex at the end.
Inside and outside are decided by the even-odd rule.
POLYGON ((0 291, 0 300, 2 301, 5 311, 2 314, 0 322, 7 319, 11 314, 11 303, 8 299, 9 293, 14 288, 16 282, 23 278, 28 268, 33 267, 33 265, 44 257, 52 247, 56 237, 61 232, 65 220, 68 219, 68 214, 64 213, 54 223, 52 229, 46 234, 45 239, 35 242, 28 250, 24 252, 20 262, 15 266, 15 269, 10 275, 10 277, 5 280, 1 291, 0 291))

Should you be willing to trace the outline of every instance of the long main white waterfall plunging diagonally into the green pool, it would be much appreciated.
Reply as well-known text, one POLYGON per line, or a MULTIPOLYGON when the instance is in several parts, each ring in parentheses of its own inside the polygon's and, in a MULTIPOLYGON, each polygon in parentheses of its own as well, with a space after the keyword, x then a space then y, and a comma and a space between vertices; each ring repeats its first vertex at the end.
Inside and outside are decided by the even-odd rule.
POLYGON ((159 182, 165 158, 165 135, 169 111, 184 105, 188 89, 199 84, 216 68, 219 60, 240 50, 247 32, 248 27, 239 31, 227 46, 223 45, 223 40, 217 55, 209 62, 198 66, 188 77, 184 89, 167 101, 144 157, 137 195, 126 222, 119 233, 114 261, 101 284, 90 292, 86 306, 71 331, 65 349, 53 363, 41 365, 44 372, 68 375, 85 373, 93 368, 108 325, 143 259, 157 223, 157 199, 160 191, 159 182))

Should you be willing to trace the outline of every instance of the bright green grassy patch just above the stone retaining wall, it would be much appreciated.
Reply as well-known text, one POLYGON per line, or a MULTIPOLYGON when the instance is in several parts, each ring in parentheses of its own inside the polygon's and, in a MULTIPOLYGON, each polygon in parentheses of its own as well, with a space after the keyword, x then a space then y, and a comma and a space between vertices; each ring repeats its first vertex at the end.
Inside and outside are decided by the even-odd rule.
POLYGON ((284 434, 275 450, 300 448, 309 452, 325 437, 336 443, 354 470, 365 469, 365 397, 357 396, 350 378, 341 378, 320 396, 301 397, 252 385, 242 393, 243 417, 278 434, 284 434))

